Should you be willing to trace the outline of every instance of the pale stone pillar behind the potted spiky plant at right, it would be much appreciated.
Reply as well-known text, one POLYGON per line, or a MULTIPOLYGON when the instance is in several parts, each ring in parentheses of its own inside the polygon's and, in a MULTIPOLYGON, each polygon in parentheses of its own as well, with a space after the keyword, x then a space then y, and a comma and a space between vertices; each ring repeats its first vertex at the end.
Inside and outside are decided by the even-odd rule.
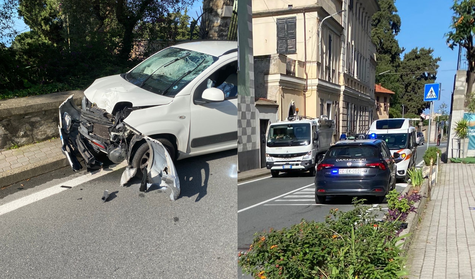
MULTIPOLYGON (((452 106, 450 108, 448 137, 447 137, 447 158, 452 158, 452 139, 456 139, 454 127, 457 121, 464 118, 464 101, 467 91, 467 72, 458 70, 455 75, 454 93, 452 93, 452 106)), ((457 150, 454 150, 454 157, 458 157, 457 150)))

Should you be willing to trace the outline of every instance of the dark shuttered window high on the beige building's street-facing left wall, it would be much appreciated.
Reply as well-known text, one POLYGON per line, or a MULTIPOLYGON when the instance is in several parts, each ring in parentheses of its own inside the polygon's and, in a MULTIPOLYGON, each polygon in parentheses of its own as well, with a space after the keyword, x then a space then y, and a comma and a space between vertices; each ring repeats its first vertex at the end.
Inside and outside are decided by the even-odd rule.
POLYGON ((296 17, 277 19, 277 53, 297 53, 296 27, 296 17))

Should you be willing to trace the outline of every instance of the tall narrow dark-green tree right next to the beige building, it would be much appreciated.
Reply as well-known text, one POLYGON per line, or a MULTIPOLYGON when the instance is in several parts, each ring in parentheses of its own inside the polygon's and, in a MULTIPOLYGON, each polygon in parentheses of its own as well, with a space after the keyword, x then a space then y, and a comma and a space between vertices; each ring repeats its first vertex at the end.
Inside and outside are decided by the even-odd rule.
MULTIPOLYGON (((380 0, 381 9, 371 19, 371 41, 376 45, 376 83, 390 89, 395 94, 390 99, 390 116, 402 111, 399 102, 399 75, 395 74, 401 62, 400 54, 404 51, 396 39, 401 27, 395 0, 380 0), (387 74, 380 74, 387 72, 387 74)), ((400 112, 399 114, 400 115, 400 112)))

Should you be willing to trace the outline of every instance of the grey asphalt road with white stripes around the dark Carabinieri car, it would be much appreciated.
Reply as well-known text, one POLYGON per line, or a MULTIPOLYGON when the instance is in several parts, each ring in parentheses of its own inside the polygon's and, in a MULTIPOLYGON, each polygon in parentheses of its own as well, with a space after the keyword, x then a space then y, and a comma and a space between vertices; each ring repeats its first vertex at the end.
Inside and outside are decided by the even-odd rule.
MULTIPOLYGON (((435 144, 430 144, 435 146, 435 144)), ((423 155, 427 145, 417 149, 417 165, 423 164, 423 155)), ((402 191, 406 183, 396 184, 402 191)), ((317 205, 314 199, 314 177, 309 173, 282 173, 279 177, 267 177, 243 182, 237 185, 237 247, 238 251, 247 251, 256 232, 269 228, 282 229, 300 223, 302 219, 324 221, 330 209, 341 211, 353 208, 352 197, 329 198, 327 204, 317 205)), ((373 204, 374 199, 367 198, 367 205, 383 215, 387 204, 373 204), (379 208, 382 211, 379 211, 379 208)), ((252 278, 243 275, 238 268, 239 278, 252 278)))

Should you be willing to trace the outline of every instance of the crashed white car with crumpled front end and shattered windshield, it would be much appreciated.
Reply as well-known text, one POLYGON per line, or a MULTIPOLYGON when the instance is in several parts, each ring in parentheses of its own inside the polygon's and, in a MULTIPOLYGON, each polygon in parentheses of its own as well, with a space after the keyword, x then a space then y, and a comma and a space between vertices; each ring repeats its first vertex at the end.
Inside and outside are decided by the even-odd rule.
POLYGON ((143 173, 180 195, 173 161, 237 148, 237 42, 190 41, 161 50, 125 74, 95 80, 81 108, 59 106, 62 150, 73 170, 101 168, 101 153, 127 160, 121 184, 143 173))

